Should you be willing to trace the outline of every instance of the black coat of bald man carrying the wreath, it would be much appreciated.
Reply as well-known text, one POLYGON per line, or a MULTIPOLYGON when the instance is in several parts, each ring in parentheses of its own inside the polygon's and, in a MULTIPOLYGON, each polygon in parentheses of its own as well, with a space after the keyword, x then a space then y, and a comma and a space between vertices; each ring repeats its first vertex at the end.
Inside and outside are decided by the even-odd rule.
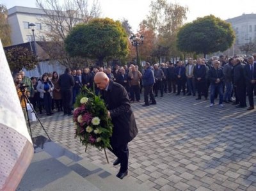
POLYGON ((138 134, 127 91, 122 85, 109 80, 108 91, 101 91, 101 94, 114 125, 111 145, 127 144, 138 134))

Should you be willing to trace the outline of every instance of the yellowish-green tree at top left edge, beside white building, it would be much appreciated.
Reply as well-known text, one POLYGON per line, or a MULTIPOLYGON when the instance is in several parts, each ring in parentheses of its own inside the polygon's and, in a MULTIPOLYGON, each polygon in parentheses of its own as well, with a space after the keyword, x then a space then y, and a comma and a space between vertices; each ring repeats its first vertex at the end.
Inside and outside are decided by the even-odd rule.
POLYGON ((0 4, 0 39, 3 47, 11 45, 11 27, 7 22, 7 9, 4 4, 0 4))

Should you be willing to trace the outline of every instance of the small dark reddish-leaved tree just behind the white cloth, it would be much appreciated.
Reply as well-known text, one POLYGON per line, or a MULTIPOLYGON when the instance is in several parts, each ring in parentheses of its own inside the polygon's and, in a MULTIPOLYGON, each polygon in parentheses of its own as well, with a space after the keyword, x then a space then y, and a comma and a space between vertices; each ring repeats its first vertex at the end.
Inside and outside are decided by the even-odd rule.
POLYGON ((25 68, 26 70, 33 70, 36 66, 36 57, 33 52, 25 47, 13 47, 4 50, 4 52, 10 66, 10 70, 13 73, 19 72, 22 68, 25 68))

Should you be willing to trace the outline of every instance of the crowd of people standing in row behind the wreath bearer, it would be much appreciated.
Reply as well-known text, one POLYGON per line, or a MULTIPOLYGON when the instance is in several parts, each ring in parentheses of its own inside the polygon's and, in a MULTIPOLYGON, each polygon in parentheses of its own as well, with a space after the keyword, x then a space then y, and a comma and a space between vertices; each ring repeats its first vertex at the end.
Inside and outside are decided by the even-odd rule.
POLYGON ((131 103, 141 102, 143 92, 145 102, 143 107, 156 104, 156 97, 159 95, 163 97, 164 93, 175 93, 177 96, 197 95, 195 100, 201 100, 202 97, 208 100, 210 93, 210 107, 214 106, 217 97, 220 107, 224 107, 223 103, 232 103, 241 108, 247 107, 247 95, 250 104, 247 109, 254 109, 256 54, 248 57, 212 57, 209 61, 204 58, 189 58, 185 63, 183 61, 160 65, 145 63, 141 71, 136 65, 83 70, 67 68, 60 77, 57 72, 52 72, 44 73, 39 79, 26 77, 21 71, 15 76, 15 83, 17 86, 20 82, 26 84, 29 100, 40 114, 44 109, 47 116, 51 116, 54 110, 71 115, 81 88, 90 88, 95 93, 99 93, 93 82, 97 72, 104 72, 110 80, 122 84, 131 103))

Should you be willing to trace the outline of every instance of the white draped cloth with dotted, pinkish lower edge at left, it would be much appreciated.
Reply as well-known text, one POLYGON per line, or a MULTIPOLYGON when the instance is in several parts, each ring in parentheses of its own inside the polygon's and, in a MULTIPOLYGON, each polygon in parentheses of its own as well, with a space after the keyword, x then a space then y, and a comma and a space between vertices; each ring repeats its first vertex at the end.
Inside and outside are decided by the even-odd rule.
POLYGON ((0 41, 0 190, 15 190, 33 157, 33 144, 0 41))

